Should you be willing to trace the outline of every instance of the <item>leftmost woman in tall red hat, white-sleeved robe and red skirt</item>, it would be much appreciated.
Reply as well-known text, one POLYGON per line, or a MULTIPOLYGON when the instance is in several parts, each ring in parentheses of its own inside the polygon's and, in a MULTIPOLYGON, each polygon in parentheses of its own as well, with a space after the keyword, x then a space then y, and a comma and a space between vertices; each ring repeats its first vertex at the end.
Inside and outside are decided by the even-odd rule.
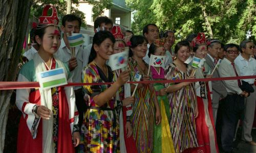
MULTIPOLYGON (((55 7, 50 5, 44 9, 46 14, 49 8, 57 14, 55 7)), ((39 72, 63 68, 68 82, 71 82, 68 66, 54 56, 60 46, 60 33, 58 22, 51 20, 57 18, 42 16, 35 30, 38 52, 24 64, 18 81, 37 82, 39 72), (45 22, 45 18, 51 20, 45 22)), ((74 146, 79 144, 79 127, 73 87, 18 89, 16 93, 17 108, 23 113, 18 129, 17 152, 75 152, 74 146)))

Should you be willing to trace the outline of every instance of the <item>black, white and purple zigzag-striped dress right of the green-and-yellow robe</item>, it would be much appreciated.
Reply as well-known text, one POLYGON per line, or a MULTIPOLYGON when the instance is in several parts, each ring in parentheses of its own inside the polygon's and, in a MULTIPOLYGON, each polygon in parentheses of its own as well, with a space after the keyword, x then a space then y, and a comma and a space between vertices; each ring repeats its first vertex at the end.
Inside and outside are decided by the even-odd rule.
MULTIPOLYGON (((187 66, 187 71, 180 71, 174 63, 165 68, 166 80, 172 80, 178 74, 178 79, 187 79, 193 69, 187 66)), ((172 83, 165 84, 165 87, 172 83)), ((196 93, 194 84, 190 84, 180 90, 168 94, 170 106, 170 133, 176 152, 183 152, 188 148, 197 147, 197 136, 195 127, 194 110, 196 103, 196 93)))

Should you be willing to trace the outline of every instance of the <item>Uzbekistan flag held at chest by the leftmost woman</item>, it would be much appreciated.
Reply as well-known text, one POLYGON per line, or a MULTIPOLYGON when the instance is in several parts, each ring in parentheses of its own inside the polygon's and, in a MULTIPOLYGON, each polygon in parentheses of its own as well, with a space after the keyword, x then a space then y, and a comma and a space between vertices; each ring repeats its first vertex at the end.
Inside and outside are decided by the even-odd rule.
POLYGON ((42 89, 49 89, 67 85, 67 78, 63 68, 52 69, 37 73, 39 85, 42 89))

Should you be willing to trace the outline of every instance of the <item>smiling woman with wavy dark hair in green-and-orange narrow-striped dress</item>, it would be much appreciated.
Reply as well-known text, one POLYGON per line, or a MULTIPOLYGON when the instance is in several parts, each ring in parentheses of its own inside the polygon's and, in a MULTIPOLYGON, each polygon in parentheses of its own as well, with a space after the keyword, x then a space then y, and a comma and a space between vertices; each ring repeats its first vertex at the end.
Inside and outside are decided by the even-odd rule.
MULTIPOLYGON (((142 59, 146 55, 146 39, 143 36, 133 36, 130 41, 129 67, 131 69, 131 80, 133 80, 136 73, 142 75, 143 81, 150 80, 150 77, 147 76, 148 65, 142 59)), ((131 92, 134 89, 135 85, 131 84, 131 92)), ((156 124, 161 121, 159 106, 157 101, 154 100, 154 88, 151 84, 138 84, 134 96, 132 125, 137 150, 138 152, 153 152, 154 115, 156 115, 156 124), (154 113, 155 109, 156 114, 154 113)))

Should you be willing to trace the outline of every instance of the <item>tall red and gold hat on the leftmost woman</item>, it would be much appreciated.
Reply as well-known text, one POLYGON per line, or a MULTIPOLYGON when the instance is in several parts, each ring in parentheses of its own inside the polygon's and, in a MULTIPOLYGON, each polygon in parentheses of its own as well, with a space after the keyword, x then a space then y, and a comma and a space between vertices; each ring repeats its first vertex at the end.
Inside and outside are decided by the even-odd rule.
POLYGON ((38 17, 38 25, 36 29, 41 29, 41 28, 48 27, 50 25, 54 25, 57 30, 58 22, 59 22, 59 19, 58 19, 58 13, 56 8, 52 5, 47 5, 45 6, 44 10, 42 10, 42 15, 38 17), (52 15, 47 16, 47 13, 50 8, 52 9, 52 15))

